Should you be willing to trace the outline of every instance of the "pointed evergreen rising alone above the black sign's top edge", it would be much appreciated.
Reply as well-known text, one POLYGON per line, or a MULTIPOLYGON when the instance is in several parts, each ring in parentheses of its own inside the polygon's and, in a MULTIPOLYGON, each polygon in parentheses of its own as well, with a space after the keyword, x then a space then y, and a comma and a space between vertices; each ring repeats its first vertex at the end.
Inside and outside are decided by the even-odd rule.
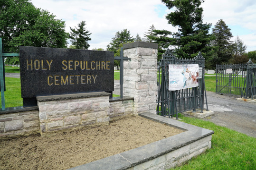
POLYGON ((90 45, 88 44, 88 41, 91 40, 90 36, 92 33, 89 33, 88 30, 86 30, 86 24, 85 21, 81 21, 78 23, 77 27, 70 28, 70 36, 71 39, 70 42, 72 45, 76 46, 76 49, 88 49, 90 45))

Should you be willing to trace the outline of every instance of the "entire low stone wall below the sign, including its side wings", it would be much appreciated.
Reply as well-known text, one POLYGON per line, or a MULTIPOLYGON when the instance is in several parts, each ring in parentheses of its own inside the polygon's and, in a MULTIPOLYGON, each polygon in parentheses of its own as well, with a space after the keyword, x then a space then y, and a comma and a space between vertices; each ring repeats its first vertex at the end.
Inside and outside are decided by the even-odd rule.
POLYGON ((7 108, 0 112, 0 136, 41 135, 59 130, 109 123, 133 114, 133 97, 109 99, 109 93, 38 97, 38 107, 7 108), (39 111, 38 111, 39 110, 39 111))

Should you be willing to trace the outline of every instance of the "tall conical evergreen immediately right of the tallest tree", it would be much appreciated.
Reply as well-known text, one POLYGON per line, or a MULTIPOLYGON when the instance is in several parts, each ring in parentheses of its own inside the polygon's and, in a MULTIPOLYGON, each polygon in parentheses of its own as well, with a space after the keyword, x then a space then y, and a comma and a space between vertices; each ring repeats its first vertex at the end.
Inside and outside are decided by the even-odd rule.
POLYGON ((220 19, 212 29, 212 33, 216 37, 213 41, 213 46, 216 47, 216 55, 211 59, 212 66, 216 67, 216 64, 227 64, 228 60, 232 57, 232 42, 230 39, 233 35, 230 32, 230 28, 220 19))

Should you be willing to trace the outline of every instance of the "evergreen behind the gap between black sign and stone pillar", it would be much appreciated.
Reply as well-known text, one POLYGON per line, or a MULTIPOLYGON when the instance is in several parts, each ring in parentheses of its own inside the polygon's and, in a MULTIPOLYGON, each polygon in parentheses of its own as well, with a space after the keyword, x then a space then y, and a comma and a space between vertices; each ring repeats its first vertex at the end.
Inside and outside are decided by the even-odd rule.
MULTIPOLYGON (((107 45, 107 51, 114 51, 114 53, 117 53, 118 49, 121 48, 120 44, 133 41, 134 38, 131 36, 130 31, 123 29, 123 31, 115 33, 114 38, 112 38, 111 42, 107 45)), ((119 53, 117 55, 119 55, 119 53)))

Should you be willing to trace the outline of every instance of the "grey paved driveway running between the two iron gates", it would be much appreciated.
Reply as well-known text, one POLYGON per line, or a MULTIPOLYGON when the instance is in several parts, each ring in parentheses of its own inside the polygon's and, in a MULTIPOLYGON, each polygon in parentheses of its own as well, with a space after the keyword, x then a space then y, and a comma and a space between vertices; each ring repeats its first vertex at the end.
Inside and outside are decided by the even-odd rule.
POLYGON ((256 137, 256 102, 237 101, 237 97, 213 92, 207 92, 207 101, 214 115, 205 120, 256 137))

